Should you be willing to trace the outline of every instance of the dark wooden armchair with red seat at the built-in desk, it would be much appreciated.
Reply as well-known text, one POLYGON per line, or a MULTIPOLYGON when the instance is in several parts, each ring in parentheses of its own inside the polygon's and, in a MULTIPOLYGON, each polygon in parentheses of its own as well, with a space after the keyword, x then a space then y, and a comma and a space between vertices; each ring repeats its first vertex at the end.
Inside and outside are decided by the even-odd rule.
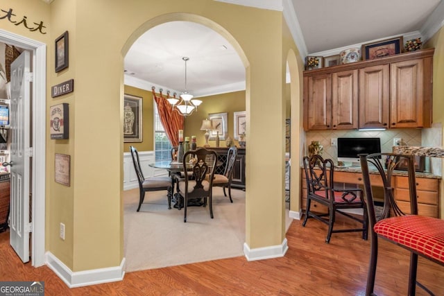
POLYGON ((304 157, 304 170, 307 179, 307 209, 302 226, 305 227, 308 218, 315 218, 328 225, 325 243, 336 232, 362 232, 362 238, 367 239, 367 211, 361 189, 335 189, 334 165, 332 159, 323 159, 320 155, 304 157), (311 211, 311 201, 318 202, 328 208, 327 214, 318 214, 311 211), (343 209, 364 209, 363 218, 357 218, 341 211, 343 209), (362 224, 360 228, 334 229, 336 213, 346 216, 362 224), (327 219, 323 218, 328 216, 327 219))

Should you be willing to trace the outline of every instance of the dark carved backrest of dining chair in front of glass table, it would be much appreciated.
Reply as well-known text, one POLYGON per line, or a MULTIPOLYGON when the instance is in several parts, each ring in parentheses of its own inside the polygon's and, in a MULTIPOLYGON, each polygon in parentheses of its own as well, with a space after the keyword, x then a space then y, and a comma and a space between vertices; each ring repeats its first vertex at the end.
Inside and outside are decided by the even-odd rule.
POLYGON ((209 196, 212 191, 217 153, 214 150, 207 150, 205 148, 188 150, 183 157, 184 167, 189 168, 190 162, 187 159, 191 158, 195 159, 195 162, 192 164, 192 174, 185 174, 185 192, 191 197, 209 196), (190 180, 193 180, 193 185, 195 184, 194 189, 189 188, 190 180), (204 180, 210 183, 209 186, 204 186, 204 180))

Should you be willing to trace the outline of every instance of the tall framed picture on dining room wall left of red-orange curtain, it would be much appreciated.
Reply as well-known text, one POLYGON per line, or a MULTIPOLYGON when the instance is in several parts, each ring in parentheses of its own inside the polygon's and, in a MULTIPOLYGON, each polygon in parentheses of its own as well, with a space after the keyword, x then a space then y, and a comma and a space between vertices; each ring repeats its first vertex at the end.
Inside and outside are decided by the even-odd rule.
POLYGON ((123 97, 123 141, 142 142, 142 98, 123 97))

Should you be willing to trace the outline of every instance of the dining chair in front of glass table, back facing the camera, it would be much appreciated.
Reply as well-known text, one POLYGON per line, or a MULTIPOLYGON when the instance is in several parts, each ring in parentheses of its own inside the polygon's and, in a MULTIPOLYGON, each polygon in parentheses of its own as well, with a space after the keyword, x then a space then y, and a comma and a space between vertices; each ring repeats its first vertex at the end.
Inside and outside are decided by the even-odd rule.
MULTIPOLYGON (((189 167, 189 157, 195 159, 191 163, 191 175, 185 174, 183 180, 179 181, 179 195, 183 198, 184 218, 183 222, 187 222, 187 207, 191 198, 201 198, 204 200, 203 205, 208 204, 210 208, 210 217, 213 216, 212 204, 212 185, 214 177, 214 167, 216 166, 217 154, 213 150, 198 148, 189 150, 183 157, 184 168, 189 167)), ((180 203, 179 203, 180 204, 180 203)), ((179 206, 180 209, 180 206, 179 206)))

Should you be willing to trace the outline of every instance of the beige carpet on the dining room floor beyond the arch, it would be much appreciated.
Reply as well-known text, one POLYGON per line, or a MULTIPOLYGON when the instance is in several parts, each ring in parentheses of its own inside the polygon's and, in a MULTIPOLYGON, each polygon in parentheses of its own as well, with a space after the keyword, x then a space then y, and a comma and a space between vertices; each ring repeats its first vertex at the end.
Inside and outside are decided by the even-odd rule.
MULTIPOLYGON (((148 192, 139 212, 139 189, 124 193, 127 272, 244 256, 245 192, 232 189, 233 203, 215 187, 214 219, 208 207, 168 209, 165 191, 148 192)), ((287 209, 288 217, 288 209, 287 209)), ((287 229, 291 219, 287 218, 287 229)))

